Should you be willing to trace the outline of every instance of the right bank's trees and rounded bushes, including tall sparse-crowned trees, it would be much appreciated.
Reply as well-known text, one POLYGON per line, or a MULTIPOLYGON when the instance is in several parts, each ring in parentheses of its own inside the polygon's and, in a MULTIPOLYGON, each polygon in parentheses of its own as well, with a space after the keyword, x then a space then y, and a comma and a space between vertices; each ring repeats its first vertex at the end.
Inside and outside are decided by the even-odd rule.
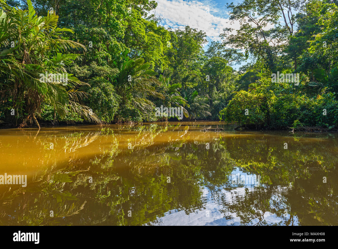
POLYGON ((220 117, 248 128, 336 127, 337 2, 245 0, 228 7, 241 26, 236 34, 224 29, 223 45, 247 42, 245 54, 255 60, 241 68, 238 91, 220 117), (272 74, 299 74, 299 85, 272 74))

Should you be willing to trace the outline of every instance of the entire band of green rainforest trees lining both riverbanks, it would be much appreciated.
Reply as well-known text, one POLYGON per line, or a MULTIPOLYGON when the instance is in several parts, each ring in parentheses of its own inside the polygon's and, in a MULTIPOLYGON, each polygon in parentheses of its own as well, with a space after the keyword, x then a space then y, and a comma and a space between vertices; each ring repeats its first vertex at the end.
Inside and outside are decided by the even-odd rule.
POLYGON ((230 23, 207 50, 203 30, 161 26, 155 1, 0 3, 0 119, 15 126, 163 121, 162 105, 250 128, 337 126, 334 0, 227 4, 230 23), (68 84, 43 82, 46 71, 68 84), (286 73, 299 85, 271 81, 286 73))

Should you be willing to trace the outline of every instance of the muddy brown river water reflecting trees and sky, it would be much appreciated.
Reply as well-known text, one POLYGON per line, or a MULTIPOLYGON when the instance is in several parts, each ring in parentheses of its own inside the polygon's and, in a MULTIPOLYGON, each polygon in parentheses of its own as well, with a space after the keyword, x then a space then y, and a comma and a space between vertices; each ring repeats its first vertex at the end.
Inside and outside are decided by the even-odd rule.
POLYGON ((0 130, 0 225, 338 225, 338 133, 233 128, 0 130))

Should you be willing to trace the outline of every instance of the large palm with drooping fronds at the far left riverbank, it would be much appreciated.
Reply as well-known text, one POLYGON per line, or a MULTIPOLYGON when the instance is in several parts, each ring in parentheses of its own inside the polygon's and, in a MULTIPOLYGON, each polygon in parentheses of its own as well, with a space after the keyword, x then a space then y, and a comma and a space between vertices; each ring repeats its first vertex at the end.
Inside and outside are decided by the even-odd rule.
MULTIPOLYGON (((89 107, 79 103, 84 92, 77 87, 85 84, 72 74, 67 74, 66 66, 80 55, 67 53, 68 49, 83 48, 82 44, 62 38, 64 32, 73 33, 68 28, 58 28, 58 16, 48 12, 46 17, 35 15, 30 0, 28 10, 10 7, 0 3, 0 82, 1 99, 10 96, 10 104, 21 111, 21 126, 35 117, 42 102, 54 107, 55 112, 64 116, 69 108, 87 120, 100 122, 89 107), (67 75, 67 83, 41 77, 45 72, 67 75)), ((8 99, 8 98, 7 98, 8 99)))

